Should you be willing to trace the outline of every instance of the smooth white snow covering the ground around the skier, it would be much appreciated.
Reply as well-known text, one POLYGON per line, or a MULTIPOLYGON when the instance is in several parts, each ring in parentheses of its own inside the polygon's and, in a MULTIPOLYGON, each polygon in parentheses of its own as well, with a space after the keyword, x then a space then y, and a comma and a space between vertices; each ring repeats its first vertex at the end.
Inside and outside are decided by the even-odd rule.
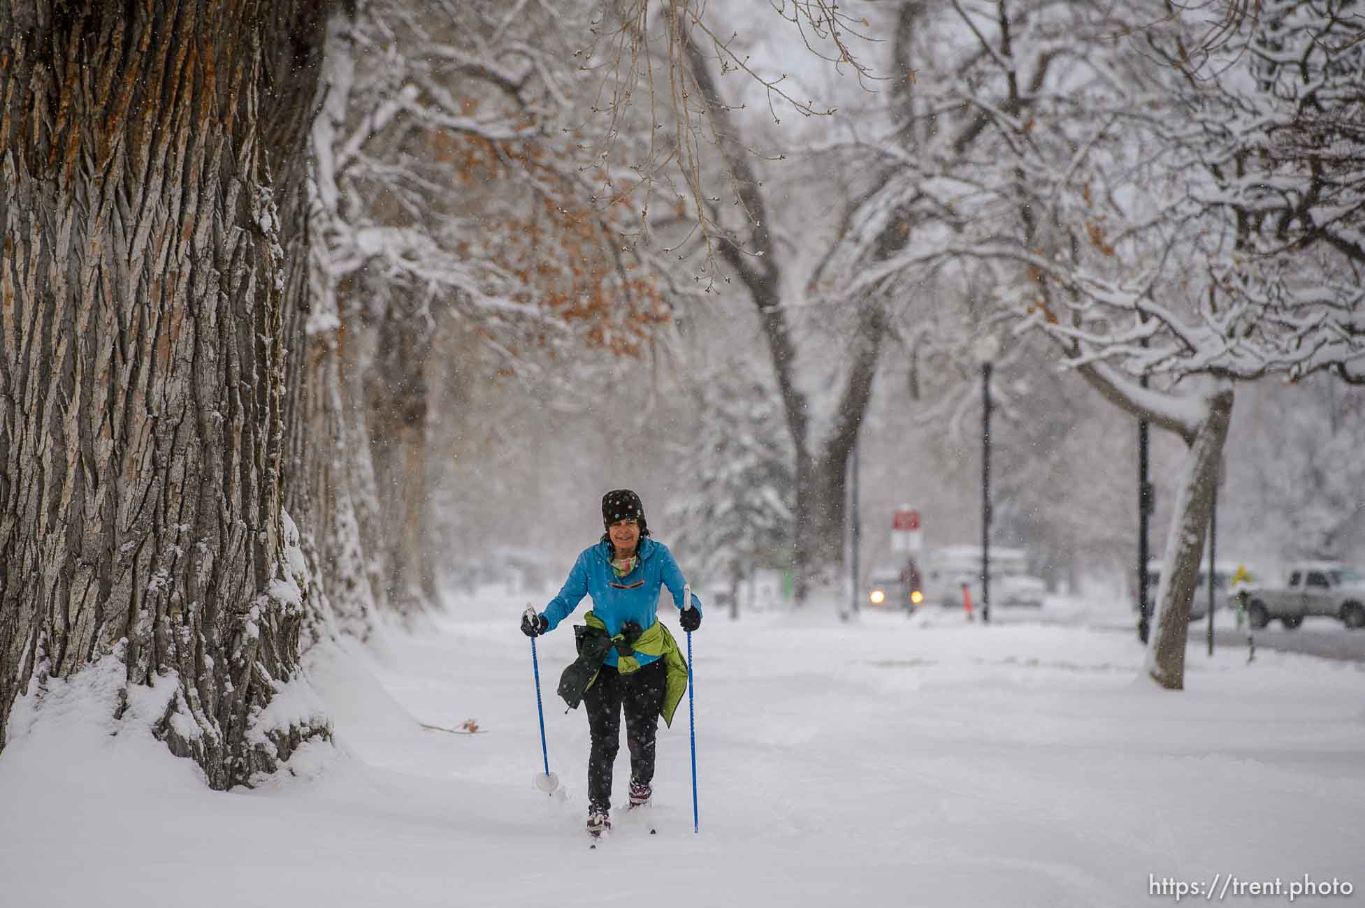
MULTIPOLYGON (((531 784, 520 605, 457 603, 378 657, 318 653, 341 753, 257 791, 207 791, 138 733, 136 702, 111 736, 89 674, 0 757, 0 904, 1051 908, 1174 904, 1153 877, 1215 874, 1279 877, 1272 903, 1304 874, 1365 889, 1358 664, 1192 644, 1167 693, 1103 629, 1122 616, 1076 601, 990 627, 713 614, 693 635, 700 834, 684 705, 659 732, 658 834, 618 813, 590 851, 587 721, 554 697, 572 634, 539 642, 557 800, 531 784), (419 724, 467 718, 486 733, 419 724)), ((622 742, 618 800, 627 766, 622 742)))

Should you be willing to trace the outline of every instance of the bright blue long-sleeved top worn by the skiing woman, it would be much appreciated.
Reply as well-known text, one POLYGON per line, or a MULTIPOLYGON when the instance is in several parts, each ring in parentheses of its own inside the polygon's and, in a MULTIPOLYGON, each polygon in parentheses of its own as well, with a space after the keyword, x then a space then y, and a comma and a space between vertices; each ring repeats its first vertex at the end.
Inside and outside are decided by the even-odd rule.
MULTIPOLYGON (((682 608, 682 571, 673 559, 673 552, 663 543, 655 543, 648 536, 640 539, 636 547, 640 556, 639 563, 625 577, 617 577, 612 570, 612 543, 601 541, 591 548, 583 549, 569 579, 564 582, 560 594, 550 600, 545 611, 545 619, 550 622, 547 630, 558 627, 560 622, 568 618, 584 596, 592 597, 592 614, 602 619, 609 634, 620 634, 625 622, 635 622, 640 630, 648 630, 655 624, 659 605, 659 588, 667 586, 673 593, 673 604, 682 608)), ((692 594, 692 608, 702 614, 702 600, 692 594)), ((616 650, 609 650, 603 665, 616 667, 616 650)), ((636 653, 642 665, 648 665, 658 656, 636 653)))

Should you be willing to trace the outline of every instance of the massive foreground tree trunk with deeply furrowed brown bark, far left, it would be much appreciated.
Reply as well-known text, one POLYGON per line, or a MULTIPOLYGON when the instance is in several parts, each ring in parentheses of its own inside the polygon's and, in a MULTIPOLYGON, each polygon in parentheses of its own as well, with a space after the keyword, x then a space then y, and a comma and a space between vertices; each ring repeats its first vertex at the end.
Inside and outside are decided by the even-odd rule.
POLYGON ((0 0, 0 747, 101 659, 176 679, 156 733, 213 788, 330 735, 259 718, 308 596, 284 297, 324 5, 0 0))

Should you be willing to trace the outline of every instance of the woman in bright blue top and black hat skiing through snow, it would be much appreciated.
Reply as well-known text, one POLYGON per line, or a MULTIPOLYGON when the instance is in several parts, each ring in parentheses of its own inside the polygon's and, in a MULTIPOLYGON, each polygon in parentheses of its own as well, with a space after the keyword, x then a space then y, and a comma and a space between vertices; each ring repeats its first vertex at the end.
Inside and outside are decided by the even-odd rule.
POLYGON ((644 506, 631 489, 602 496, 606 532, 584 549, 560 594, 545 611, 527 608, 521 633, 538 637, 558 627, 584 596, 592 597, 586 626, 575 627, 579 659, 564 671, 560 695, 571 708, 587 703, 592 750, 588 755, 587 830, 599 836, 612 828, 612 768, 621 746, 621 713, 631 751, 632 808, 648 803, 654 781, 658 720, 673 721, 687 690, 687 663, 667 627, 657 618, 659 588, 667 586, 682 609, 682 630, 702 624, 702 603, 684 601, 682 571, 673 552, 648 539, 644 506))

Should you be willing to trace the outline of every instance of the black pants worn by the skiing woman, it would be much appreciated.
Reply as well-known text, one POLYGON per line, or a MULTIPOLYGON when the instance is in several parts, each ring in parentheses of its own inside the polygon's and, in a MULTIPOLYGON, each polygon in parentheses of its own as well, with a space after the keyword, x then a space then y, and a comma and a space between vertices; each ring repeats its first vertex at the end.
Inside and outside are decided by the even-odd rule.
POLYGON ((666 675, 657 659, 629 675, 603 665, 597 680, 583 694, 592 732, 588 755, 588 810, 612 808, 612 769, 621 748, 621 712, 625 712, 625 746, 631 751, 631 781, 648 784, 654 778, 654 742, 659 729, 666 675))

